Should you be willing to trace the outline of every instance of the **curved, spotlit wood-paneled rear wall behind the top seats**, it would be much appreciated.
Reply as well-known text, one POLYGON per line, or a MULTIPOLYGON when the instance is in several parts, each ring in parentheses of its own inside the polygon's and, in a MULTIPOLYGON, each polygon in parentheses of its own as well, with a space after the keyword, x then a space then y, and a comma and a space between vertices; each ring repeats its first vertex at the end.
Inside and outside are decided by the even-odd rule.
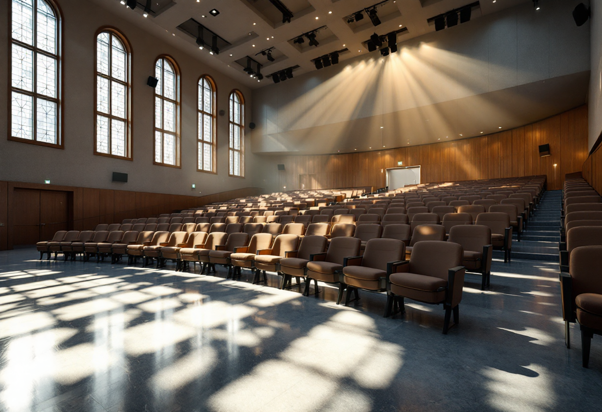
MULTIPOLYGON (((299 189, 299 175, 315 174, 315 189, 385 187, 388 167, 421 166, 422 183, 547 175, 560 189, 566 173, 579 172, 588 156, 588 109, 574 108, 530 125, 487 136, 408 148, 281 158, 279 187, 299 189), (539 145, 550 156, 539 157, 539 145), (556 164, 556 166, 554 166, 556 164)), ((601 166, 602 171, 602 166, 601 166)), ((602 183, 602 181, 601 181, 602 183)))

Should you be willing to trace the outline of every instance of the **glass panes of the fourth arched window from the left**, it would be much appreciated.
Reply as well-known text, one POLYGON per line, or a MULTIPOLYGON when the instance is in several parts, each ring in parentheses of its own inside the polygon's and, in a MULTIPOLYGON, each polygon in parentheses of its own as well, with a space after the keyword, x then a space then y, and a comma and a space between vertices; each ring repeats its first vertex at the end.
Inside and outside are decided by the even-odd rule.
POLYGON ((198 89, 197 170, 216 173, 216 86, 209 76, 202 76, 198 89))

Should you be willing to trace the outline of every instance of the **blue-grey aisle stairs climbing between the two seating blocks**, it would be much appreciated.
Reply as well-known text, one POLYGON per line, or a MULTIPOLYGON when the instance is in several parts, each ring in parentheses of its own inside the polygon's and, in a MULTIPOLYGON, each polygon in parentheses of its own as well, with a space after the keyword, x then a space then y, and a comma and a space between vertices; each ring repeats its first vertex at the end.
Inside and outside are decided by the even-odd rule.
MULTIPOLYGON (((560 190, 544 192, 539 205, 521 234, 512 239, 512 258, 557 262, 560 242, 560 190)), ((495 258, 504 258, 504 252, 494 251, 495 258)))

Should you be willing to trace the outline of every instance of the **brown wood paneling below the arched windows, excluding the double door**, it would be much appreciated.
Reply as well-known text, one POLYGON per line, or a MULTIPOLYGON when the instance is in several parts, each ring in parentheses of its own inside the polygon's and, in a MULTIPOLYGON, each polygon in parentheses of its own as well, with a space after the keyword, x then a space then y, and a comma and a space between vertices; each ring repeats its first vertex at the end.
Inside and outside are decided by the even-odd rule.
POLYGON ((151 217, 175 210, 200 207, 213 202, 261 195, 262 189, 246 187, 206 196, 165 195, 126 190, 0 181, 0 250, 13 248, 11 214, 15 187, 62 190, 73 193, 73 230, 94 229, 98 223, 120 223, 123 219, 151 217))

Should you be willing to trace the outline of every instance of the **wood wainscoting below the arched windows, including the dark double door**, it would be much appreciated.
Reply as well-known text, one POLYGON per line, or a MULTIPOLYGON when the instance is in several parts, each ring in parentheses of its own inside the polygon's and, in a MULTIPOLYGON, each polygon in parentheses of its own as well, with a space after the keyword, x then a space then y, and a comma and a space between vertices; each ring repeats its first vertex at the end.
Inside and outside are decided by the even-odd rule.
POLYGON ((60 229, 90 230, 98 223, 120 223, 123 219, 172 213, 261 193, 258 187, 245 187, 206 196, 182 196, 0 181, 0 250, 33 242, 36 233, 50 239, 60 229), (67 202, 66 207, 58 206, 61 201, 67 202), (24 207, 25 214, 15 210, 24 207), (40 223, 46 225, 39 226, 40 223), (24 228, 23 225, 28 225, 26 239, 24 234, 15 236, 15 231, 24 228))

